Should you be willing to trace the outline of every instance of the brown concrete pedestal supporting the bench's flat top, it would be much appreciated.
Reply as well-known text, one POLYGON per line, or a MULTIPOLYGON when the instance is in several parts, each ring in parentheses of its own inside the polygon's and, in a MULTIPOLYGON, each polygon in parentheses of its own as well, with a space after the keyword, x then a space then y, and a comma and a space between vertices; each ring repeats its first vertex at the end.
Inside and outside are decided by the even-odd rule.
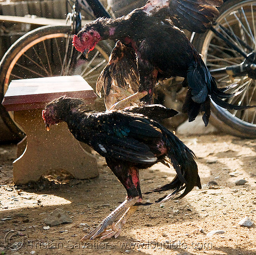
POLYGON ((25 184, 37 181, 49 170, 66 170, 75 178, 88 179, 98 176, 96 158, 82 149, 79 142, 68 130, 66 123, 59 123, 45 129, 41 117, 42 109, 14 112, 14 120, 27 137, 18 144, 18 154, 13 162, 13 181, 25 184))

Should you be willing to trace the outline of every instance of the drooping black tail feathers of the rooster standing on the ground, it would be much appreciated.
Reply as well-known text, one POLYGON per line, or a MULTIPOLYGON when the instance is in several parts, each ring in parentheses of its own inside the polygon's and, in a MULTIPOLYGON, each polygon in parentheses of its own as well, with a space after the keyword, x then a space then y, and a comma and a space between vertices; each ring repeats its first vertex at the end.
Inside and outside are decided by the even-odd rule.
POLYGON ((158 128, 160 128, 163 133, 163 139, 168 150, 170 163, 173 165, 177 174, 172 182, 148 193, 174 190, 173 193, 159 198, 156 201, 160 202, 169 198, 174 198, 175 195, 182 190, 184 191, 178 198, 182 198, 187 195, 195 186, 201 189, 198 167, 193 151, 188 149, 184 143, 168 129, 164 128, 160 124, 158 128))

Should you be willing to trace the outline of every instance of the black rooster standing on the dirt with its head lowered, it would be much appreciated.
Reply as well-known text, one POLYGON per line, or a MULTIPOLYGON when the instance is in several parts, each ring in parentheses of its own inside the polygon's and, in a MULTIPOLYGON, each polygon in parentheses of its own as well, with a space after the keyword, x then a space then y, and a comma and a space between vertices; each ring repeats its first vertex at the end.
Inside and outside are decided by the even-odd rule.
POLYGON ((160 116, 166 118, 177 114, 175 110, 157 105, 93 112, 87 109, 82 100, 66 97, 54 100, 42 111, 47 130, 51 125, 67 122, 69 130, 78 141, 88 144, 105 157, 109 168, 127 191, 124 202, 82 240, 120 235, 127 218, 136 210, 137 205, 142 204, 139 169, 161 162, 167 166, 172 164, 176 170, 177 175, 172 182, 152 191, 174 190, 158 201, 172 198, 183 189, 179 198, 184 197, 195 186, 201 189, 194 153, 172 132, 141 113, 135 113, 136 111, 145 114, 148 112, 158 119, 160 116), (112 229, 106 230, 108 226, 112 229))

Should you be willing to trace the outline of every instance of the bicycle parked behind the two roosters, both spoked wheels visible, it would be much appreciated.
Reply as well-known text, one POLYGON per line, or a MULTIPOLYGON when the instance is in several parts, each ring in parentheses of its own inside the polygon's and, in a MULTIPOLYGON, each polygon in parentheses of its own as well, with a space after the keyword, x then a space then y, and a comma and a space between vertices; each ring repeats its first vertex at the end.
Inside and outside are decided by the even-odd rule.
MULTIPOLYGON (((103 6, 100 5, 98 0, 88 0, 87 3, 88 5, 85 5, 85 9, 89 11, 89 13, 92 13, 90 8, 94 9, 96 14, 108 13, 103 6), (97 3, 96 9, 94 6, 95 3, 97 3), (90 8, 88 8, 88 6, 90 8)), ((212 30, 209 30, 205 34, 193 33, 191 41, 204 56, 204 61, 212 75, 216 77, 218 86, 234 85, 237 83, 238 85, 231 86, 228 92, 243 90, 240 95, 233 97, 231 99, 232 101, 229 102, 234 104, 244 103, 255 105, 256 69, 253 68, 256 67, 256 60, 254 58, 256 54, 256 0, 224 0, 224 4, 219 10, 220 16, 216 20, 216 24, 212 27, 212 30)), ((73 17, 77 16, 77 19, 80 20, 80 16, 78 15, 79 6, 74 6, 73 12, 77 12, 77 14, 73 13, 73 17)), ((95 16, 97 17, 97 15, 95 16)), ((74 21, 73 24, 75 24, 75 22, 76 21, 74 21)), ((56 70, 54 69, 55 73, 51 73, 48 69, 44 70, 47 75, 79 74, 79 68, 85 69, 86 71, 84 71, 83 75, 86 74, 85 78, 87 82, 94 87, 99 73, 106 61, 108 61, 112 47, 104 41, 97 44, 95 50, 91 52, 91 57, 89 56, 89 61, 85 62, 87 63, 86 66, 95 64, 89 71, 87 67, 81 67, 83 65, 82 63, 86 61, 85 59, 81 58, 79 55, 74 57, 77 53, 75 53, 71 47, 72 31, 74 32, 74 27, 72 28, 72 26, 47 26, 31 31, 15 42, 0 62, 0 86, 3 90, 1 91, 1 98, 4 96, 4 92, 8 88, 12 78, 35 78, 30 77, 26 72, 24 73, 24 77, 20 77, 20 75, 15 73, 14 66, 17 65, 20 68, 21 64, 19 64, 19 60, 24 58, 33 63, 35 69, 40 68, 34 63, 36 61, 32 58, 27 58, 28 54, 25 53, 27 50, 33 52, 33 48, 39 47, 40 43, 43 44, 41 48, 43 49, 41 52, 43 54, 37 54, 36 59, 42 59, 39 62, 49 64, 49 58, 47 58, 48 55, 45 49, 51 53, 51 47, 55 44, 58 45, 57 49, 59 49, 59 53, 53 56, 50 54, 53 58, 51 59, 52 63, 56 63, 59 56, 63 56, 66 59, 65 65, 57 66, 58 68, 56 68, 56 70), (58 43, 50 43, 51 47, 49 47, 49 45, 45 43, 48 40, 57 40, 58 43), (30 46, 32 44, 33 46, 30 46), (69 49, 72 54, 66 54, 66 49, 69 49)), ((24 69, 27 71, 26 68, 25 62, 24 69)), ((17 71, 18 68, 16 68, 16 72, 17 71)), ((35 70, 33 69, 33 71, 35 70)), ((171 89, 173 89, 173 86, 171 89)), ((177 90, 179 90, 179 88, 177 90)), ((178 95, 178 97, 179 96, 180 95, 178 95)), ((0 110, 0 112, 2 113, 2 110, 0 110)), ((22 133, 20 133, 19 128, 13 123, 10 115, 6 111, 4 114, 3 119, 5 119, 8 127, 12 128, 11 130, 13 130, 15 134, 22 136, 22 133)), ((248 138, 256 137, 255 108, 243 111, 231 111, 213 104, 210 122, 232 135, 248 138)))

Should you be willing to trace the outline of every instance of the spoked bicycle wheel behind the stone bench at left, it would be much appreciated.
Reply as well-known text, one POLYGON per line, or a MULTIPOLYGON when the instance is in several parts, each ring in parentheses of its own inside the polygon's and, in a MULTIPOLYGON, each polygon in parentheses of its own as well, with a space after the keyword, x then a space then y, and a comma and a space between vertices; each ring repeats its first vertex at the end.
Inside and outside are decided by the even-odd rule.
MULTIPOLYGON (((81 75, 95 89, 112 48, 102 41, 86 59, 72 46, 72 37, 71 27, 45 26, 30 31, 12 44, 0 62, 1 102, 13 79, 81 75)), ((24 133, 2 105, 0 114, 13 133, 13 140, 23 138, 24 133)))

